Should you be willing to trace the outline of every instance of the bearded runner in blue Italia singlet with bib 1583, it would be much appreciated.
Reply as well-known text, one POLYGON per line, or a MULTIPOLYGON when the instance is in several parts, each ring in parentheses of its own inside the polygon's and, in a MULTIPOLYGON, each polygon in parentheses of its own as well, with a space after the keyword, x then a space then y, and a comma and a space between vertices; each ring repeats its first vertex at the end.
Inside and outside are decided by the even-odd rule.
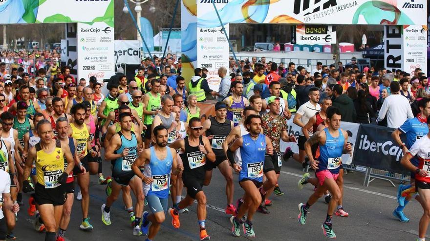
POLYGON ((240 236, 240 226, 246 236, 255 237, 252 219, 261 203, 261 194, 258 188, 263 184, 263 166, 265 154, 273 154, 273 146, 270 139, 260 134, 262 119, 259 115, 249 115, 244 123, 249 134, 243 135, 236 139, 227 151, 227 158, 232 164, 233 169, 239 173, 239 185, 245 191, 244 202, 240 205, 238 213, 230 218, 233 224, 232 233, 234 236, 240 236), (234 152, 240 149, 242 164, 239 166, 235 163, 234 152), (247 215, 246 221, 242 218, 247 215))

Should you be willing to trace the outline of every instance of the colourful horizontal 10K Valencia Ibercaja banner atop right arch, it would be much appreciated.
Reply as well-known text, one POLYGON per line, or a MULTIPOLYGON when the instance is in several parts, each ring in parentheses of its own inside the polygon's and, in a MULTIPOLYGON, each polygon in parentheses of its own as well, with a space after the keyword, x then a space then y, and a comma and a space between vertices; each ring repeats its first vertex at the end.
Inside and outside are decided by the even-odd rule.
MULTIPOLYGON (((183 0, 189 11, 195 9, 196 1, 199 27, 219 27, 211 0, 183 0), (207 9, 205 14, 200 14, 200 5, 207 9)), ((428 0, 215 0, 215 3, 224 23, 427 24, 428 0)))

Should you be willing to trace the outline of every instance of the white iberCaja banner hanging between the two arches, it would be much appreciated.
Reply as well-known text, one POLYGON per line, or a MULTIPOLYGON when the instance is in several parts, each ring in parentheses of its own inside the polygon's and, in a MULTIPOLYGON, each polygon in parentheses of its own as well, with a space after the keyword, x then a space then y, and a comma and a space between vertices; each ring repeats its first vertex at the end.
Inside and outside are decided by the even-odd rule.
POLYGON ((140 64, 139 40, 115 40, 115 64, 140 64))

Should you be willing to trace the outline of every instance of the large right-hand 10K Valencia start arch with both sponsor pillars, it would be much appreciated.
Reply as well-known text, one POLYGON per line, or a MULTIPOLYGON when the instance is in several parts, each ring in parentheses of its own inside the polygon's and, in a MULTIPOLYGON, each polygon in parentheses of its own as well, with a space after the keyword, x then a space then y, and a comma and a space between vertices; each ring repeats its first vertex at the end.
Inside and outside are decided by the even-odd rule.
POLYGON ((419 67, 426 73, 427 4, 427 0, 181 0, 183 75, 190 79, 194 68, 207 68, 208 83, 218 90, 217 69, 229 67, 224 35, 229 23, 387 25, 387 69, 410 72, 419 67))

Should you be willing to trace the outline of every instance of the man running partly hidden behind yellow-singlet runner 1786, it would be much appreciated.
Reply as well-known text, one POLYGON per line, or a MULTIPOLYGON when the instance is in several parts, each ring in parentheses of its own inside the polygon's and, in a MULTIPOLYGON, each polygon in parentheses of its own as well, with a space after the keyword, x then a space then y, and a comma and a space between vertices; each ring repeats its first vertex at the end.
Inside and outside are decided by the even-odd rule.
MULTIPOLYGON (((55 123, 56 129, 57 129, 57 136, 56 139, 61 141, 61 145, 64 147, 70 148, 70 153, 73 155, 73 160, 75 163, 79 163, 80 156, 82 157, 82 154, 79 154, 76 152, 76 146, 77 141, 72 138, 68 137, 69 132, 69 123, 67 118, 60 117, 57 119, 55 123)), ((86 169, 84 166, 79 165, 81 173, 85 175, 86 169)), ((73 172, 69 173, 67 176, 66 184, 65 184, 65 193, 67 195, 67 199, 63 205, 63 216, 61 217, 59 230, 58 230, 58 238, 56 241, 63 241, 65 231, 69 225, 70 222, 70 214, 72 211, 73 206, 73 196, 75 194, 75 186, 74 186, 74 177, 73 172)))

